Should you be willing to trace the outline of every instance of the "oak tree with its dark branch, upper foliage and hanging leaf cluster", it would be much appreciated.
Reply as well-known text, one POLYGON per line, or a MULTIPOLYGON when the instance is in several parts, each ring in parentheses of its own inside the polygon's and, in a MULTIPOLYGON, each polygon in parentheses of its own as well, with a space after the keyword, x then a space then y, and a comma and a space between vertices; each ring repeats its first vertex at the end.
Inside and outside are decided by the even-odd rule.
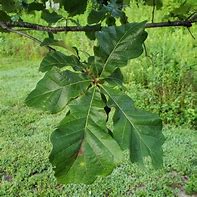
POLYGON ((189 28, 196 22, 196 13, 187 20, 154 23, 155 8, 162 7, 162 1, 144 1, 153 6, 152 23, 130 23, 124 12, 129 3, 0 0, 1 31, 20 34, 49 49, 39 68, 45 75, 27 96, 26 104, 51 113, 65 112, 65 118, 52 133, 49 156, 61 183, 92 183, 97 176, 110 174, 121 163, 125 149, 132 162, 143 164, 143 158, 149 156, 154 167, 162 166, 162 121, 155 114, 137 109, 125 94, 121 67, 143 53, 148 35, 145 28, 189 28), (48 26, 23 21, 24 14, 36 11, 42 13, 48 26), (76 15, 87 16, 87 25, 57 26, 62 21, 77 24, 76 15), (121 25, 116 25, 117 21, 121 25), (39 41, 20 28, 48 32, 48 37, 39 41), (84 61, 77 48, 69 48, 67 54, 55 50, 53 47, 62 46, 62 42, 55 40, 54 34, 64 31, 84 31, 89 39, 96 39, 94 53, 84 61), (109 121, 112 126, 108 126, 109 121))

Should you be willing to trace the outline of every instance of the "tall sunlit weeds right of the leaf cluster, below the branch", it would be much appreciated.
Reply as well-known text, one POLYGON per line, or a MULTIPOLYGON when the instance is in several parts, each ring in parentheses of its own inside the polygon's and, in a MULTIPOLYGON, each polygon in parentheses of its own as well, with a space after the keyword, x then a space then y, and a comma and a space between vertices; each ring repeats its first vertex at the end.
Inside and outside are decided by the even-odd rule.
POLYGON ((196 42, 181 29, 149 34, 148 57, 134 60, 124 70, 128 93, 138 107, 159 114, 165 124, 195 129, 196 42))

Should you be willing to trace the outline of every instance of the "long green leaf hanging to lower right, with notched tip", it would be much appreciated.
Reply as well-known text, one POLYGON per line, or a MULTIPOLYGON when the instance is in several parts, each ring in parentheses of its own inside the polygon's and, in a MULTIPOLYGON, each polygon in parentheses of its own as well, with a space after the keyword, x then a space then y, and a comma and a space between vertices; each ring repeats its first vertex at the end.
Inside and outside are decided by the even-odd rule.
POLYGON ((102 86, 108 95, 110 107, 115 107, 113 136, 122 149, 129 148, 132 162, 143 164, 143 157, 150 156, 154 167, 161 167, 162 134, 161 119, 152 113, 135 108, 132 99, 109 85, 102 86))

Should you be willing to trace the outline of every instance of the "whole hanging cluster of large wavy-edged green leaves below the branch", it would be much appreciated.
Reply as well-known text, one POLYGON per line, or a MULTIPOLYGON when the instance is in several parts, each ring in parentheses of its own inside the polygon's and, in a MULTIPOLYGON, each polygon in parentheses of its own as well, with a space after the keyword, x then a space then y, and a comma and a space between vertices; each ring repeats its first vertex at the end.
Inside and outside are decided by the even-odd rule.
MULTIPOLYGON (((111 3, 110 6, 112 6, 111 3)), ((118 17, 126 20, 123 15, 118 17)), ((109 21, 113 21, 113 19, 107 18, 106 23, 108 24, 109 21)), ((122 23, 126 23, 126 21, 122 23)), ((189 24, 191 24, 190 21, 189 24)), ((9 27, 6 26, 6 28, 9 30, 9 27)), ((60 45, 60 43, 55 41, 51 34, 42 43, 52 50, 40 66, 40 70, 47 71, 47 73, 28 96, 26 103, 29 106, 47 109, 52 113, 61 111, 67 103, 69 104, 69 108, 65 110, 66 118, 60 123, 51 138, 53 151, 50 160, 56 167, 55 175, 59 181, 91 183, 97 175, 110 173, 117 163, 122 162, 123 156, 120 148, 130 148, 131 161, 142 163, 143 156, 150 155, 154 166, 162 164, 161 145, 164 138, 161 133, 161 120, 151 113, 137 110, 132 99, 124 94, 121 86, 123 81, 119 67, 125 66, 129 59, 138 57, 142 53, 142 44, 146 39, 144 28, 145 23, 128 23, 119 27, 103 28, 102 31, 96 33, 98 44, 94 47, 94 56, 89 56, 86 61, 79 58, 78 51, 74 48, 69 49, 72 52, 72 55, 69 56, 54 51, 49 45, 60 45), (133 42, 130 44, 128 41, 132 40, 133 42), (121 53, 123 49, 125 51, 121 53), (61 69, 53 68, 54 65, 61 69), (62 71, 62 66, 65 65, 71 67, 62 71), (72 83, 68 84, 68 81, 72 83), (86 92, 86 96, 70 102, 81 95, 81 92, 86 92), (62 100, 61 96, 66 99, 62 100), (89 107, 79 109, 78 105, 89 107), (110 111, 113 118, 109 115, 110 111), (95 113, 100 116, 96 117, 95 113), (140 116, 141 118, 139 118, 140 116), (113 126, 105 126, 108 120, 112 120, 113 126), (75 133, 77 128, 70 127, 71 122, 79 123, 75 124, 79 130, 78 134, 75 133), (96 122, 100 124, 97 125, 96 122), (142 126, 142 124, 144 125, 142 126), (83 127, 84 129, 81 129, 83 127), (122 128, 125 129, 122 130, 122 128), (102 135, 101 130, 104 131, 102 135), (120 130, 124 135, 120 133, 120 130), (64 141, 60 142, 66 134, 65 131, 67 134, 68 131, 70 132, 71 138, 66 136, 64 141), (146 133, 147 131, 148 133, 146 133), (147 137, 147 134, 150 137, 147 137), (131 137, 128 138, 128 136, 131 137), (130 140, 128 141, 128 139, 130 140), (82 142, 82 140, 84 141, 82 142), (72 141, 75 146, 71 150, 72 141), (104 144, 104 147, 100 142, 104 144), (97 148, 100 146, 100 149, 95 149, 95 144, 97 144, 97 148), (156 149, 155 146, 157 146, 156 149), (62 157, 65 153, 60 154, 65 147, 67 147, 67 159, 62 157), (95 162, 96 171, 90 165, 95 162), (105 165, 100 166, 101 163, 105 163, 105 165), (80 173, 83 174, 84 170, 86 174, 83 180, 79 180, 81 175, 79 171, 76 171, 79 167, 80 173)))

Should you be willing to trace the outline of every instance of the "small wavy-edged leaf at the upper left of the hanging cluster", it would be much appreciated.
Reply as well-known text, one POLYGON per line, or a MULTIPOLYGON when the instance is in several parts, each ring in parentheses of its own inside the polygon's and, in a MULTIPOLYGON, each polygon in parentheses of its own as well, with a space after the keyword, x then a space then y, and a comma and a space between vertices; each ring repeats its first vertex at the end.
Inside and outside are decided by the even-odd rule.
POLYGON ((79 59, 74 56, 67 56, 59 51, 49 52, 40 64, 39 70, 46 72, 51 70, 53 67, 63 68, 65 66, 72 66, 76 70, 80 70, 81 63, 79 59))

